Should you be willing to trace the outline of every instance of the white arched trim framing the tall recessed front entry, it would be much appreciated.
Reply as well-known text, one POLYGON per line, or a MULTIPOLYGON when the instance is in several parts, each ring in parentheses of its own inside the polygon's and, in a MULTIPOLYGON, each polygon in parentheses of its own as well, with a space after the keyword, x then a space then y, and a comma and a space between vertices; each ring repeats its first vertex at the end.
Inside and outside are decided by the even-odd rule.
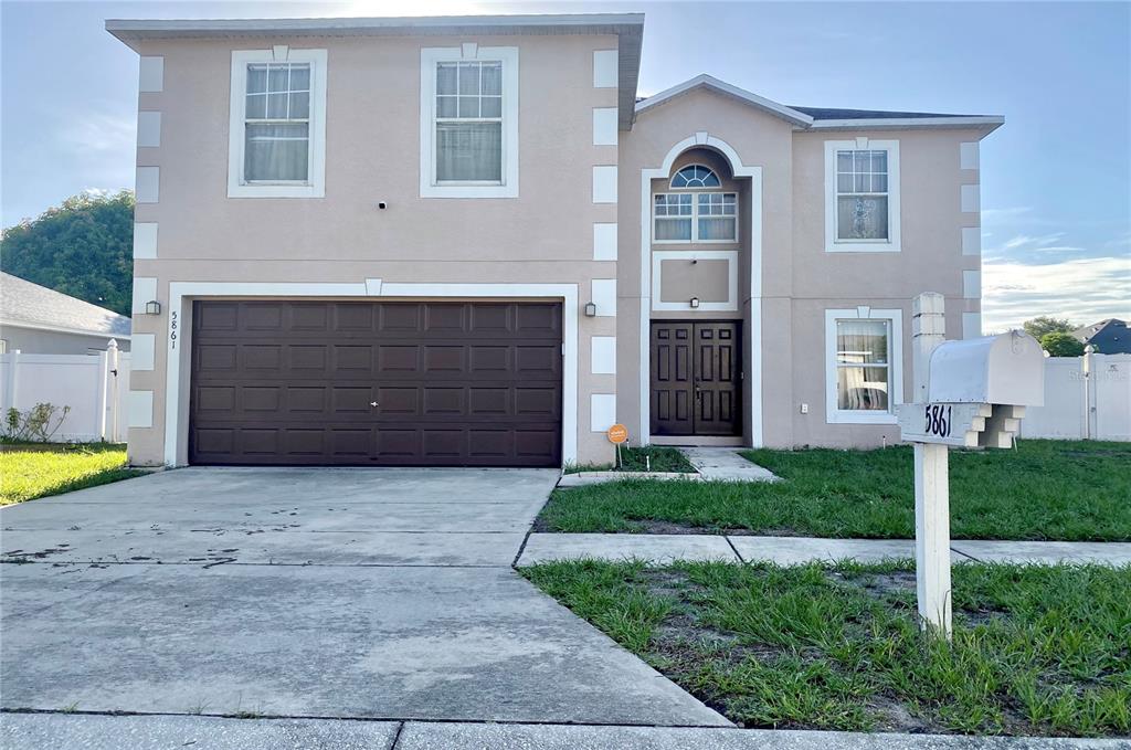
MULTIPOLYGON (((722 138, 708 132, 688 136, 668 149, 663 163, 655 169, 640 170, 640 434, 651 433, 651 181, 666 180, 672 165, 683 152, 697 146, 711 148, 723 155, 735 178, 750 178, 750 326, 746 346, 750 352, 750 445, 763 445, 762 433, 762 167, 742 163, 739 153, 722 138)), ((740 210, 740 221, 741 221, 740 210)), ((741 309, 741 300, 740 309, 741 309)))

